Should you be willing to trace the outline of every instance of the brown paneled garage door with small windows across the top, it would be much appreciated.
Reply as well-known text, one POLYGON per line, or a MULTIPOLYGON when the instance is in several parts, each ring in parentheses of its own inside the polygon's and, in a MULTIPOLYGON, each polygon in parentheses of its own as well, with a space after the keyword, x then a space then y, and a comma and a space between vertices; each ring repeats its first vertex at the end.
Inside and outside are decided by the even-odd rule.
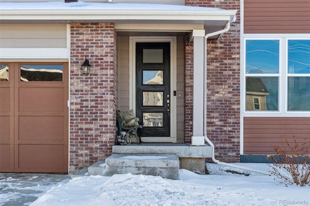
POLYGON ((68 63, 0 63, 0 172, 68 172, 68 63))

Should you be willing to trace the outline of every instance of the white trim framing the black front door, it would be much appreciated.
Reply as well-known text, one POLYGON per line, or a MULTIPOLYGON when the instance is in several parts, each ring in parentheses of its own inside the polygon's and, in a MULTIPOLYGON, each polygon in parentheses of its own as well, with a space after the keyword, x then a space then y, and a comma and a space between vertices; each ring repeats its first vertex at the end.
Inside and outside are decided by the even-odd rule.
POLYGON ((176 37, 129 37, 129 109, 136 108, 136 43, 170 42, 171 119, 170 137, 141 137, 142 142, 176 142, 176 37))

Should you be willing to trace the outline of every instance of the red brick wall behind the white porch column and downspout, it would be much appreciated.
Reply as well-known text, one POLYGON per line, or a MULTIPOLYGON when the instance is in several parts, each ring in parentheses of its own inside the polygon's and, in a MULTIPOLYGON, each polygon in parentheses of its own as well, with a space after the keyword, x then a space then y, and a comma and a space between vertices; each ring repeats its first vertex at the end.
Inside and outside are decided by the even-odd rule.
MULTIPOLYGON (((240 1, 186 0, 186 5, 238 10, 236 21, 218 40, 207 42, 207 135, 216 158, 239 162, 240 158, 240 1)), ((186 141, 192 120, 192 44, 186 40, 186 141)))

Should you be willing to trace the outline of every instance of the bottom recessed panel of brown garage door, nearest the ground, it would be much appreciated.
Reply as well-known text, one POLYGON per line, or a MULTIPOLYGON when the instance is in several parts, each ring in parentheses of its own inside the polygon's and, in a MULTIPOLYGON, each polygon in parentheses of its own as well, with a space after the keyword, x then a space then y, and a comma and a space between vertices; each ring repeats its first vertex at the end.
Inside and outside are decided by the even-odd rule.
POLYGON ((19 145, 18 168, 24 172, 68 172, 63 145, 19 145))

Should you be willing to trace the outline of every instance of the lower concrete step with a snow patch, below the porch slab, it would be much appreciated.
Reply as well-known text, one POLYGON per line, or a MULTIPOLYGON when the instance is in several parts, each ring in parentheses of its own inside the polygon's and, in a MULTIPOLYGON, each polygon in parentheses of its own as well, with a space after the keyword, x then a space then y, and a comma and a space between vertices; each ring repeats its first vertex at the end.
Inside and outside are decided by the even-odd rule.
POLYGON ((106 161, 98 161, 88 167, 88 175, 112 176, 131 173, 179 179, 177 155, 112 154, 106 161))

